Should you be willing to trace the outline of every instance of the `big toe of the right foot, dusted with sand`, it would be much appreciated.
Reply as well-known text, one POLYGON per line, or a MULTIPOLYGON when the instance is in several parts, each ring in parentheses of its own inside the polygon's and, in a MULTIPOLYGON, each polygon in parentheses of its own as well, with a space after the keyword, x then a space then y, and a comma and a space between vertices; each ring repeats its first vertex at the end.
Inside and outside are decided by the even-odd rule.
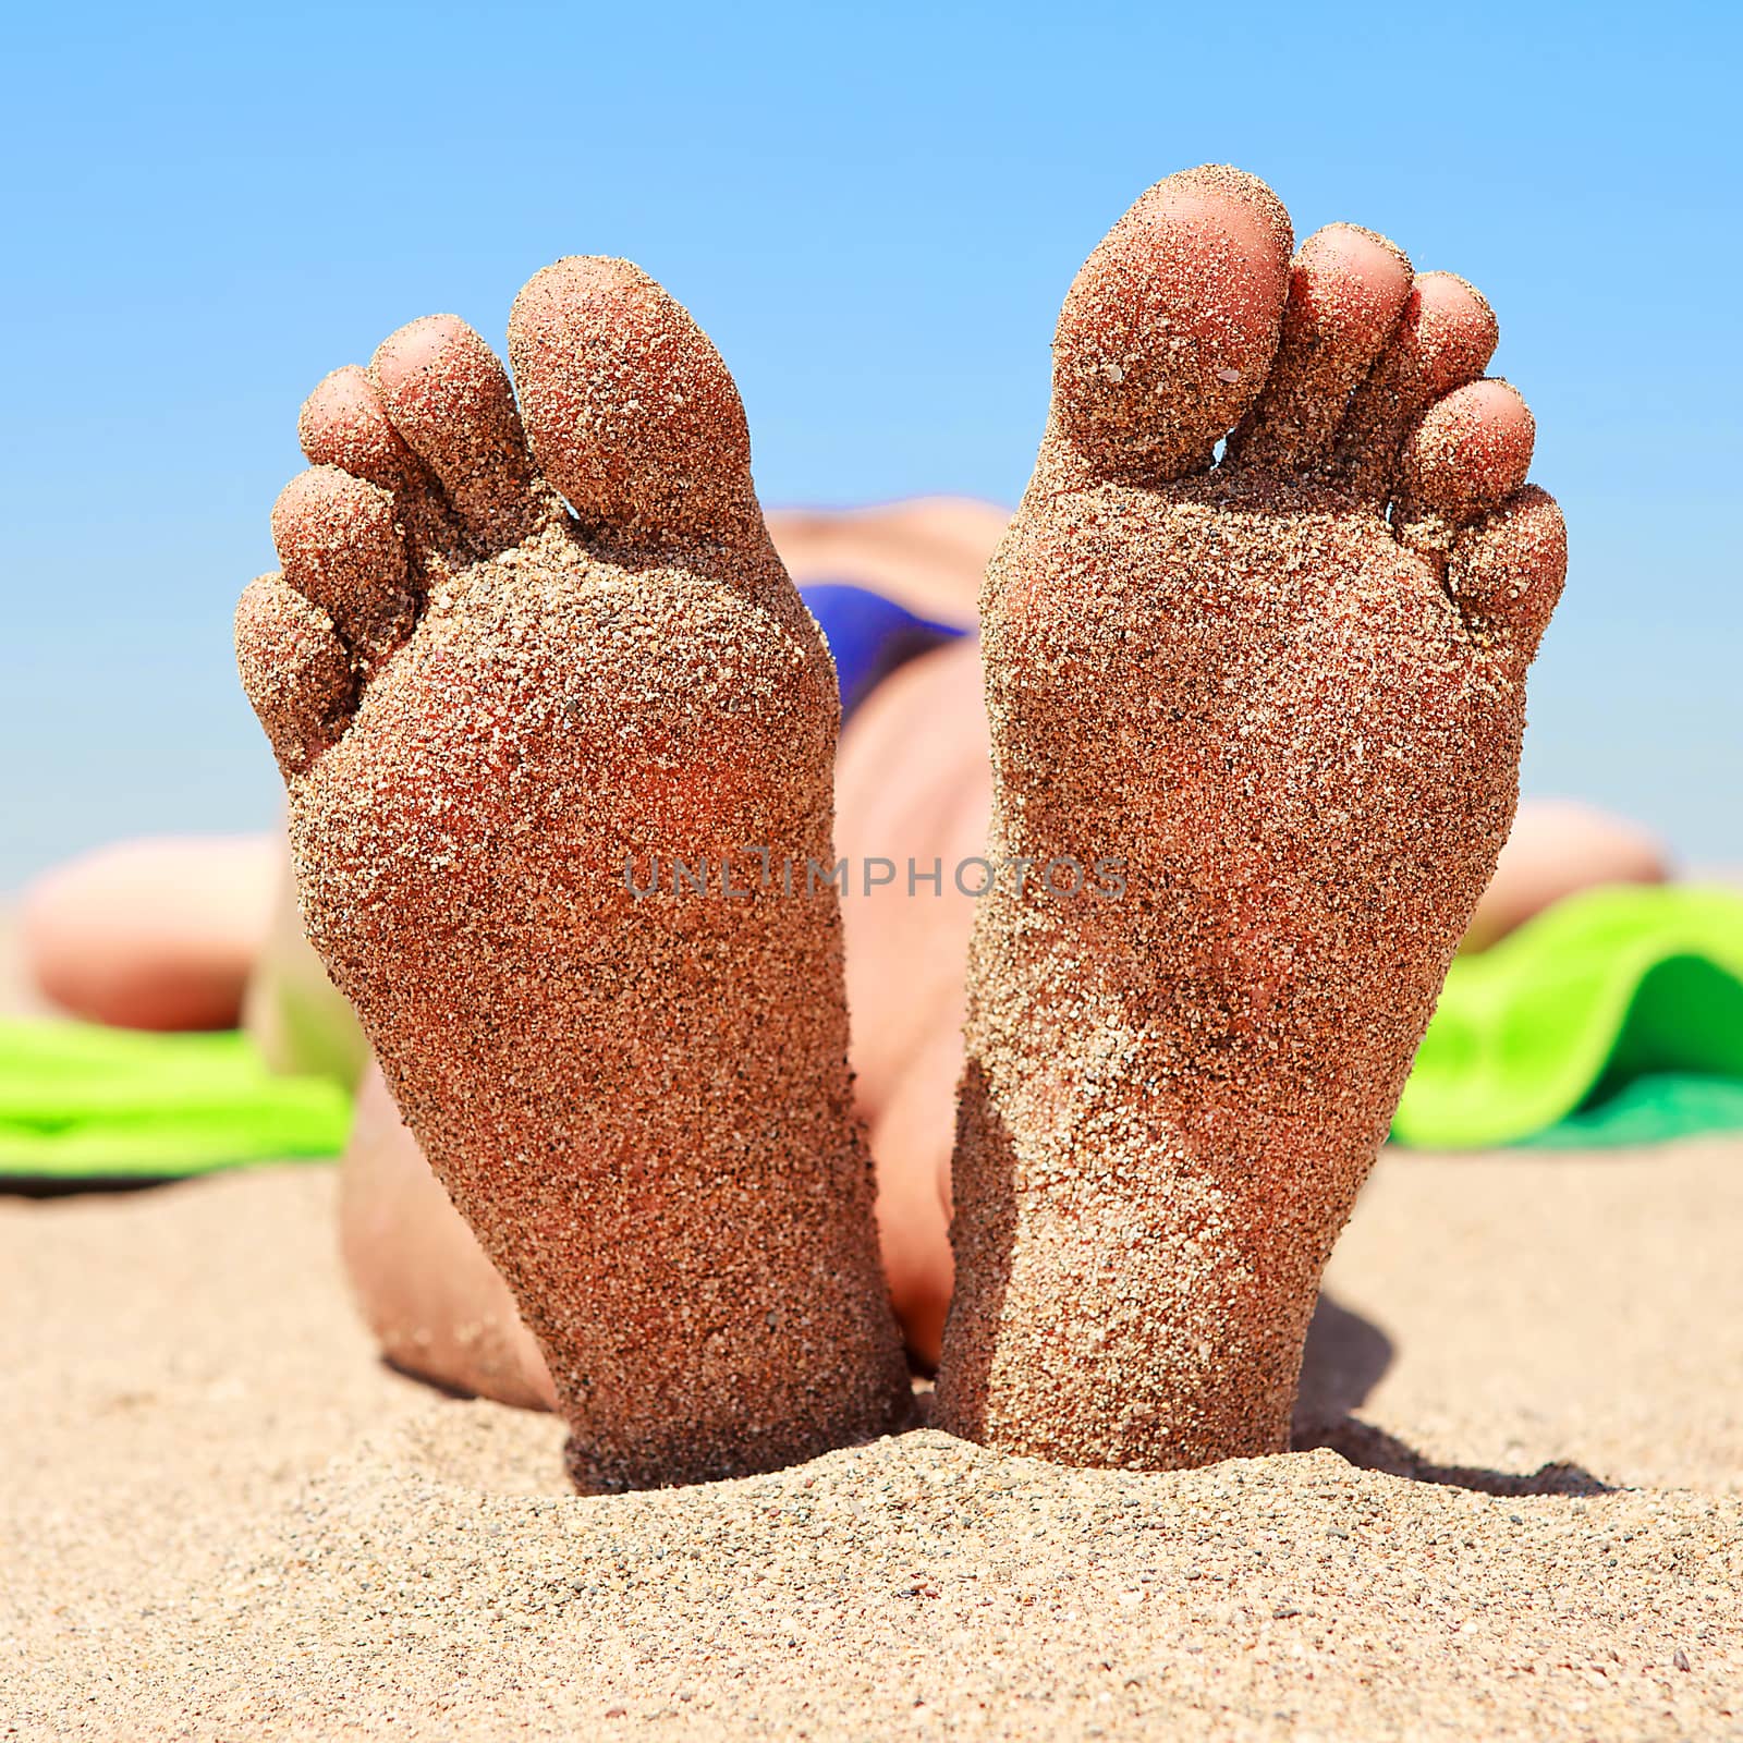
POLYGON ((1060 312, 1042 486, 1208 465, 1264 385, 1288 282, 1288 213, 1262 181, 1210 166, 1150 188, 1060 312))

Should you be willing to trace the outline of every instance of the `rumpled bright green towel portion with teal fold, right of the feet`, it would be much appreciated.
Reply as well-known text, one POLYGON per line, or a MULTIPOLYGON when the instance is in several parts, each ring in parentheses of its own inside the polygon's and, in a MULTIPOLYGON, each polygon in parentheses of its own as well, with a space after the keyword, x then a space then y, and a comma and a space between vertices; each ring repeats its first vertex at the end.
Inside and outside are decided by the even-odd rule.
POLYGON ((1471 1150, 1738 1126, 1743 896, 1618 885, 1454 962, 1393 1136, 1471 1150))

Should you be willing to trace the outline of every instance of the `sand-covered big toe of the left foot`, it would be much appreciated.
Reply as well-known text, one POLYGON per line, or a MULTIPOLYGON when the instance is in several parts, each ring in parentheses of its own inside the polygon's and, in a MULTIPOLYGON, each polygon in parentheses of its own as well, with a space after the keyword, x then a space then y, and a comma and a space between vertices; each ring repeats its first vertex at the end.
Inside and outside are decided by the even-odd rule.
POLYGON ((732 375, 640 267, 579 254, 546 267, 514 300, 509 359, 539 465, 591 530, 760 535, 732 375))

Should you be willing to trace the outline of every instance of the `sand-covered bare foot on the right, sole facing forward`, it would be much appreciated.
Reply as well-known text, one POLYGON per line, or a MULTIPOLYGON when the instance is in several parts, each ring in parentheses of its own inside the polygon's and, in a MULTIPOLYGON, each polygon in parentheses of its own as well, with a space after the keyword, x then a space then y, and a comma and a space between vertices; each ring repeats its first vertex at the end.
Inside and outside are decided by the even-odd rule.
POLYGON ((1002 872, 952 1168, 957 1433, 1147 1469, 1286 1443, 1562 586, 1530 417, 1471 382, 1492 347, 1468 286, 1367 232, 1292 265, 1225 169, 1152 188, 1072 286, 981 594, 1002 872))

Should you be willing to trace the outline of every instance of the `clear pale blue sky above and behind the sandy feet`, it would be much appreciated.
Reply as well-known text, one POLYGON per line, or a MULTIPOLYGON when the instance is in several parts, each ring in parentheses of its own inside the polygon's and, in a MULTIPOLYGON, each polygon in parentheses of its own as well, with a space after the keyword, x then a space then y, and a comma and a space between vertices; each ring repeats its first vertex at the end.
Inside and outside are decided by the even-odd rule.
POLYGON ((296 406, 626 254, 769 504, 1011 502, 1060 298, 1156 178, 1478 282, 1572 528, 1527 788, 1743 865, 1734 5, 33 7, 9 24, 0 891, 270 824, 230 664, 296 406))

